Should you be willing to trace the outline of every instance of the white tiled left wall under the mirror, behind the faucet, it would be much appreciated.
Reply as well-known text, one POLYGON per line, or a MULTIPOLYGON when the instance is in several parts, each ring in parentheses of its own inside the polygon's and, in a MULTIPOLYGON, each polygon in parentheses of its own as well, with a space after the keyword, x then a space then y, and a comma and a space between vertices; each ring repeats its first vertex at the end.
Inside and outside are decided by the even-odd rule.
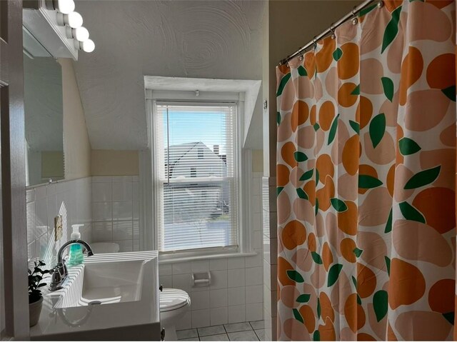
POLYGON ((83 223, 81 238, 92 241, 91 178, 46 184, 26 191, 29 261, 40 258, 51 268, 56 253, 69 240, 71 225, 83 223), (63 234, 54 241, 54 217, 63 216, 63 234))

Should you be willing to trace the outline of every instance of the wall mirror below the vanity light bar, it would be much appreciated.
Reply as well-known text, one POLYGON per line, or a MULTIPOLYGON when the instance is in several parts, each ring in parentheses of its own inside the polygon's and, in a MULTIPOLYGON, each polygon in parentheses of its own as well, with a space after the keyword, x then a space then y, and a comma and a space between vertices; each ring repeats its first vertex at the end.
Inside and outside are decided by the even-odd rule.
POLYGON ((64 179, 61 65, 40 46, 24 38, 26 186, 64 179))

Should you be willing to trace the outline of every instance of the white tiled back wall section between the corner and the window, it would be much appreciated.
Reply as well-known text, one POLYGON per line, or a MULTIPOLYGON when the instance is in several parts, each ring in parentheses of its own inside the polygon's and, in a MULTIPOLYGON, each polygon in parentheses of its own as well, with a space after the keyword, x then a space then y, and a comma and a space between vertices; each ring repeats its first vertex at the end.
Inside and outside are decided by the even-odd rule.
POLYGON ((119 251, 139 251, 138 176, 92 177, 94 241, 114 241, 119 251))

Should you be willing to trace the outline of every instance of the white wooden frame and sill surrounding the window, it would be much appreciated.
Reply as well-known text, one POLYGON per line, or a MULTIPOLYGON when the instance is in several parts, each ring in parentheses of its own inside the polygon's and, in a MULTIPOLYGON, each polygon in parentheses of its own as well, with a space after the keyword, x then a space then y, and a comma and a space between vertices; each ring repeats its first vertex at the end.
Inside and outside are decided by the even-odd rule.
MULTIPOLYGON (((198 260, 201 258, 222 258, 230 256, 252 256, 256 255, 251 247, 251 223, 250 223, 250 205, 249 201, 249 189, 251 188, 251 150, 243 149, 243 124, 244 124, 244 93, 236 93, 229 91, 161 91, 161 90, 149 90, 146 89, 146 111, 148 113, 148 126, 149 136, 152 137, 149 141, 149 156, 146 156, 146 164, 151 163, 151 178, 148 181, 145 180, 145 184, 150 184, 152 188, 152 198, 150 203, 146 201, 146 215, 149 210, 149 220, 152 225, 152 235, 145 236, 149 239, 149 244, 152 245, 154 250, 159 249, 158 241, 158 229, 159 222, 156 215, 153 213, 156 211, 158 203, 161 199, 157 189, 157 182, 159 181, 157 175, 156 158, 154 157, 154 151, 157 150, 156 141, 154 139, 154 130, 156 127, 156 104, 158 102, 167 102, 174 104, 236 104, 236 151, 234 151, 234 159, 236 159, 236 179, 237 179, 237 195, 236 198, 236 211, 237 211, 237 240, 238 248, 202 248, 192 251, 176 251, 174 253, 159 253, 160 263, 175 262, 181 260, 198 260)), ((144 196, 145 197, 145 196, 144 196)), ((144 229, 146 231, 147 229, 144 229)))

